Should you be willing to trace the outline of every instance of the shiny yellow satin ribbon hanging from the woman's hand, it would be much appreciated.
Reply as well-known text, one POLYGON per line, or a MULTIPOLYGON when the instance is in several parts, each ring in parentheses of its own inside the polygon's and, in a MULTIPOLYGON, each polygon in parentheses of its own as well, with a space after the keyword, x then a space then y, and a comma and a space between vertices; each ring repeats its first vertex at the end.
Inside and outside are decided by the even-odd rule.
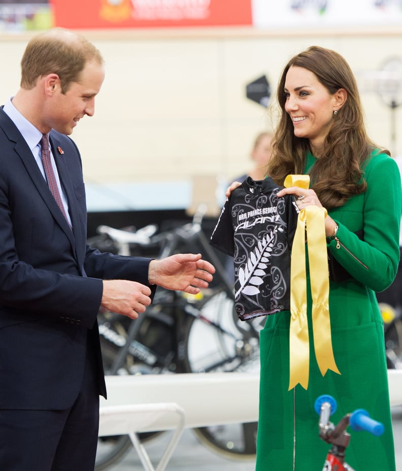
MULTIPOLYGON (((288 175, 284 186, 309 188, 308 175, 288 175)), ((305 234, 310 265, 314 351, 322 376, 330 369, 339 373, 332 351, 329 319, 329 278, 325 240, 327 211, 307 206, 299 212, 290 262, 289 390, 300 383, 309 385, 310 346, 307 321, 305 234), (306 230, 307 229, 307 230, 306 230)))

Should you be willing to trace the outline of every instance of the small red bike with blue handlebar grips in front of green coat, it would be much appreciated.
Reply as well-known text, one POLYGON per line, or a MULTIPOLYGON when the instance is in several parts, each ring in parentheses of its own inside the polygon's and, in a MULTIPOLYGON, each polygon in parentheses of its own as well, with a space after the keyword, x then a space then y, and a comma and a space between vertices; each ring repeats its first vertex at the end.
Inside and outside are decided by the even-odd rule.
POLYGON ((332 445, 322 471, 354 471, 345 462, 345 450, 350 442, 350 434, 346 428, 350 425, 353 430, 366 430, 378 436, 384 432, 384 425, 370 418, 364 409, 356 409, 351 414, 346 414, 338 425, 334 425, 329 422, 329 417, 337 410, 337 402, 329 395, 319 396, 315 401, 314 408, 320 416, 320 438, 332 445))

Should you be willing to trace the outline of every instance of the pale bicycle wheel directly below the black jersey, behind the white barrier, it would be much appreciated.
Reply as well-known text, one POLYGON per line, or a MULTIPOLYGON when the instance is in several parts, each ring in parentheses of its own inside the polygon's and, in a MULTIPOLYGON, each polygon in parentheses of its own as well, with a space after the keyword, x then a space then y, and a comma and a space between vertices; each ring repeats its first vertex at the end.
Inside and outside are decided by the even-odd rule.
MULTIPOLYGON (((234 302, 224 291, 209 300, 198 316, 188 320, 184 340, 184 364, 191 373, 259 370, 257 328, 242 323, 233 311, 234 302), (208 339, 208 341, 206 341, 208 339)), ((254 459, 257 422, 195 428, 204 445, 225 458, 254 459)))

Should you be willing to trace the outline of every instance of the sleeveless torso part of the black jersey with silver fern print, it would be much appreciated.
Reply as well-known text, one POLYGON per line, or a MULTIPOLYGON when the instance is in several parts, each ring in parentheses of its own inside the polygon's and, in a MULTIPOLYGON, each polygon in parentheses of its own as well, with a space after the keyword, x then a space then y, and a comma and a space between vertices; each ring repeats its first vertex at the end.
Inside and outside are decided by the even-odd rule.
POLYGON ((242 319, 289 309, 289 206, 276 192, 249 195, 231 208, 235 308, 242 319))

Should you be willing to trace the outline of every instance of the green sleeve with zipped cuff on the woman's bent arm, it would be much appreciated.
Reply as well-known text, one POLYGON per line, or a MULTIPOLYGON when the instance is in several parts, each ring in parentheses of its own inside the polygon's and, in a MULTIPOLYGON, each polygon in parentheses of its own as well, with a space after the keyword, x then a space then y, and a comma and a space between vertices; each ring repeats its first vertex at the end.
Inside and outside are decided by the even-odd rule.
POLYGON ((339 224, 339 248, 333 240, 329 250, 356 281, 382 291, 392 283, 399 262, 400 175, 385 154, 372 156, 364 172, 367 191, 329 213, 339 224), (354 233, 361 229, 363 240, 354 233))

